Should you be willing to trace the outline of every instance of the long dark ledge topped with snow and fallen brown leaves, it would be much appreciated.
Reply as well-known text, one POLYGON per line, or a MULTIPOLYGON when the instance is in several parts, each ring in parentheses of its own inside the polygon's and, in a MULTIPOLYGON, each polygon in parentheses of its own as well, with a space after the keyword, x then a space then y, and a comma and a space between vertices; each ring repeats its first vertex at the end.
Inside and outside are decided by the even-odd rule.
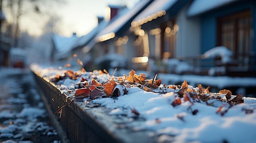
POLYGON ((209 88, 194 88, 186 81, 181 86, 166 86, 132 71, 127 77, 113 77, 102 71, 31 69, 47 104, 61 113, 59 120, 74 142, 256 140, 255 98, 234 96, 227 90, 210 93, 209 88), (70 79, 71 72, 74 79, 70 79), (103 88, 113 81, 117 85, 108 95, 103 88))

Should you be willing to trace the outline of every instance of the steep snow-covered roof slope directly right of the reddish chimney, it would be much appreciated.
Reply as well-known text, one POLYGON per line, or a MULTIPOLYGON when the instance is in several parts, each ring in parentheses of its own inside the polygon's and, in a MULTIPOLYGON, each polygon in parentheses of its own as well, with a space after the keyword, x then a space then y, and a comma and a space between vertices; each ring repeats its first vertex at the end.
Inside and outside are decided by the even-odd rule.
MULTIPOLYGON (((103 35, 107 35, 109 33, 116 33, 119 31, 129 20, 131 20, 136 14, 146 5, 150 2, 150 0, 141 0, 137 4, 135 4, 135 7, 132 9, 124 8, 121 10, 115 18, 110 20, 110 23, 108 26, 106 26, 105 29, 103 29, 97 36, 95 37, 96 41, 99 41, 99 37, 103 35)), ((115 35, 111 36, 115 37, 115 35)), ((101 40, 104 41, 104 40, 101 40)))

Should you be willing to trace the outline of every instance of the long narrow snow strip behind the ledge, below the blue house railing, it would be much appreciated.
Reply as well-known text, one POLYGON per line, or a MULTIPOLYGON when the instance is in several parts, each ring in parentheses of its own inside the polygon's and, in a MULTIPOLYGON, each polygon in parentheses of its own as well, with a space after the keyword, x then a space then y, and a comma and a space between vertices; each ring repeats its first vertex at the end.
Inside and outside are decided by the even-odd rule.
POLYGON ((192 86, 202 84, 203 86, 216 86, 220 89, 225 87, 253 87, 256 86, 255 77, 228 77, 228 76, 202 76, 202 75, 176 75, 176 74, 157 74, 158 78, 162 78, 162 82, 166 84, 182 83, 187 80, 192 86))

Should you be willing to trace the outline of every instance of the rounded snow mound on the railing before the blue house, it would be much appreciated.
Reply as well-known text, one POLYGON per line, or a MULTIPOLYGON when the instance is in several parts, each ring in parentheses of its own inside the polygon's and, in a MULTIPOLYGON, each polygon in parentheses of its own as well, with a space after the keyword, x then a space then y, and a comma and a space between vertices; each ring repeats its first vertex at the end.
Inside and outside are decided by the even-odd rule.
POLYGON ((205 59, 221 57, 221 62, 223 64, 228 64, 232 61, 232 58, 231 58, 232 55, 233 55, 233 52, 230 51, 227 47, 217 46, 215 48, 212 48, 212 49, 206 51, 202 55, 202 57, 205 59))

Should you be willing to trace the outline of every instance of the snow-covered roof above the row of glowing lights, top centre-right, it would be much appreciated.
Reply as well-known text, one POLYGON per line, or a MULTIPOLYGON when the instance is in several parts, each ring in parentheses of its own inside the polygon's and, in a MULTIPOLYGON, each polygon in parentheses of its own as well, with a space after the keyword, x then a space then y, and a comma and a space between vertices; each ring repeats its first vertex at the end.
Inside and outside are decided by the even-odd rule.
POLYGON ((148 16, 157 14, 157 12, 165 12, 168 9, 170 9, 173 6, 173 4, 175 4, 175 2, 177 2, 177 0, 154 0, 148 7, 146 7, 146 9, 144 9, 144 11, 137 15, 134 21, 147 18, 148 16))

